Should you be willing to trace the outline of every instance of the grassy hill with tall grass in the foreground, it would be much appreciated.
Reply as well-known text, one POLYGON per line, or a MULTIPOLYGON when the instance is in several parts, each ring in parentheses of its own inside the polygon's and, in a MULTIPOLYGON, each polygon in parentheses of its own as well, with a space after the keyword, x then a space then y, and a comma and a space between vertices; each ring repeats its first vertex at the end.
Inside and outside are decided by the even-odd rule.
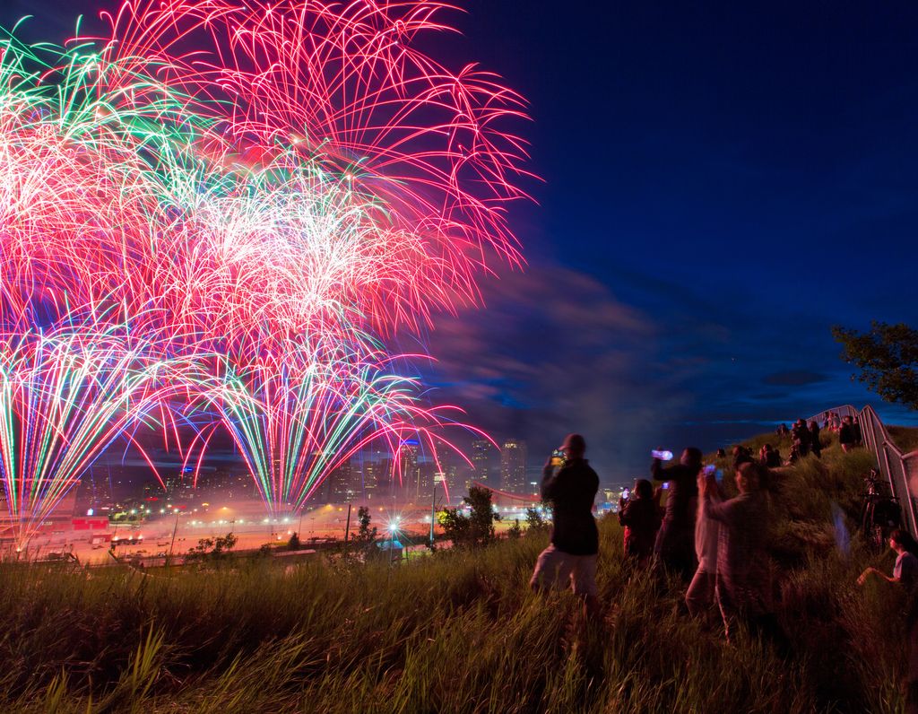
MULTIPOLYGON (((825 435, 827 438, 828 435, 825 435)), ((754 439, 756 447, 775 437, 754 439)), ((782 445, 782 453, 787 453, 782 445)), ((226 561, 207 570, 0 565, 0 709, 73 712, 811 712, 901 710, 903 603, 855 532, 867 452, 780 473, 773 557, 786 656, 679 613, 600 523, 588 628, 532 595, 544 534, 383 563, 226 561), (849 554, 834 508, 849 517, 849 554)), ((729 481, 729 480, 728 480, 729 481)))

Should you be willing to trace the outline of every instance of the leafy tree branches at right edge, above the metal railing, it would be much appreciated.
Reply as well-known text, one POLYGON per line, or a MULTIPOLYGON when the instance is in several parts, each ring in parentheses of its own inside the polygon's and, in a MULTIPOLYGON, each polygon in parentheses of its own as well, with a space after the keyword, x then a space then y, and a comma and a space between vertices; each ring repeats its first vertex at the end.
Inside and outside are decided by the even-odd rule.
POLYGON ((871 323, 868 333, 835 326, 832 334, 845 348, 842 358, 855 364, 852 375, 887 402, 918 409, 918 330, 906 324, 871 323))

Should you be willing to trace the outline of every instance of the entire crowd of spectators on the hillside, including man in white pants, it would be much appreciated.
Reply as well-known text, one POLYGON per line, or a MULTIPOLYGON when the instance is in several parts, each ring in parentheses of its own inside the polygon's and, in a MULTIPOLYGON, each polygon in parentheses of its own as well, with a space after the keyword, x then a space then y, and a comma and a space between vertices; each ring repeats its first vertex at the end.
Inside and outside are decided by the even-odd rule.
MULTIPOLYGON (((798 419, 790 428, 778 427, 782 441, 789 437, 787 460, 771 444, 757 454, 744 446, 734 447, 729 456, 718 449, 714 463, 707 465, 698 448, 685 448, 669 465, 656 457, 670 455, 655 451, 652 480, 638 479, 619 503, 629 567, 658 573, 662 584, 681 583, 689 615, 709 624, 721 622, 728 640, 742 623, 785 646, 775 616, 768 557, 773 492, 782 467, 810 455, 822 456, 823 432, 837 433, 845 451, 860 443, 855 420, 826 413, 823 425, 817 419, 798 419)), ((531 582, 536 590, 569 582, 584 597, 588 614, 595 615, 599 541, 589 510, 599 479, 584 458, 585 450, 582 436, 569 435, 555 452, 564 452, 563 465, 555 466, 554 456, 545 464, 543 496, 554 504, 554 528, 531 582)), ((897 538, 893 547, 911 552, 907 543, 902 545, 901 534, 897 538)), ((918 559, 901 553, 893 576, 886 579, 918 583, 918 559)), ((874 572, 879 571, 865 572, 862 580, 874 572)), ((915 636, 918 641, 918 627, 915 636)))

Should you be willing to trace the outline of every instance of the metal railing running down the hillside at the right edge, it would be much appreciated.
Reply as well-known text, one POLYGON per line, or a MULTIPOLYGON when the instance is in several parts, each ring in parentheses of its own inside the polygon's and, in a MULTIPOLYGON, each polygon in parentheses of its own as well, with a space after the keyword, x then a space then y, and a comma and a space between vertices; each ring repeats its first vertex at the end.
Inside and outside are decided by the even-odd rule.
MULTIPOLYGON (((918 450, 903 454, 890 436, 889 430, 872 406, 858 412, 850 404, 828 410, 840 416, 850 415, 860 425, 864 447, 877 457, 879 472, 890 483, 892 495, 899 499, 902 518, 913 538, 918 538, 918 450)), ((826 412, 813 416, 822 419, 826 412)))

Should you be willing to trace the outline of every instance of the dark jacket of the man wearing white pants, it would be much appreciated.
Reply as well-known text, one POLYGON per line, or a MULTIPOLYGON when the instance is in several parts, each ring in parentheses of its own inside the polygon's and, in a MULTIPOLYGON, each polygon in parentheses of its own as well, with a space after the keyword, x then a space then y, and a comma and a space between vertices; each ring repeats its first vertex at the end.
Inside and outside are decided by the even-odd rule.
POLYGON ((554 510, 552 544, 571 555, 599 552, 599 529, 593 517, 593 501, 599 491, 599 476, 587 459, 568 461, 557 473, 551 466, 543 471, 542 497, 554 510))

